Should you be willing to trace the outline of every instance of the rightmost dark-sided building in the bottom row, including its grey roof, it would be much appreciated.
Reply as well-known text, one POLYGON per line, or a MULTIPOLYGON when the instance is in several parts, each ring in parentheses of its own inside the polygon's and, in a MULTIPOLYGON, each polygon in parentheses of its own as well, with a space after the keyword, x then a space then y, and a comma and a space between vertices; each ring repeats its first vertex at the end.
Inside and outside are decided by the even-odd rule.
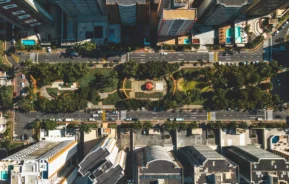
POLYGON ((240 178, 247 183, 280 183, 289 181, 289 162, 256 146, 225 149, 225 155, 239 165, 240 178))

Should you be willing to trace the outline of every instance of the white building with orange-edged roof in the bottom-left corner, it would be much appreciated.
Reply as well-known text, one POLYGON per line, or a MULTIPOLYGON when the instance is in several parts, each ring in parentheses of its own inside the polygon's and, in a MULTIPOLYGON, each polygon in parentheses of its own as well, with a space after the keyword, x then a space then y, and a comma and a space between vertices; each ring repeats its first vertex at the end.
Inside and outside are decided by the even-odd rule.
POLYGON ((76 154, 77 141, 40 141, 2 159, 0 180, 13 184, 73 182, 76 154))

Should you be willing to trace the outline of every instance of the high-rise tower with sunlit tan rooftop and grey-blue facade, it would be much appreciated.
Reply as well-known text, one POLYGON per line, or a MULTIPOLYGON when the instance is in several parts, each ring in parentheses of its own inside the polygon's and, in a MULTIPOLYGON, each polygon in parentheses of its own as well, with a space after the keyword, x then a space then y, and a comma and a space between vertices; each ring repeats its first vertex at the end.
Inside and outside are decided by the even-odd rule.
POLYGON ((158 36, 183 36, 196 20, 196 10, 163 10, 158 25, 158 36))

